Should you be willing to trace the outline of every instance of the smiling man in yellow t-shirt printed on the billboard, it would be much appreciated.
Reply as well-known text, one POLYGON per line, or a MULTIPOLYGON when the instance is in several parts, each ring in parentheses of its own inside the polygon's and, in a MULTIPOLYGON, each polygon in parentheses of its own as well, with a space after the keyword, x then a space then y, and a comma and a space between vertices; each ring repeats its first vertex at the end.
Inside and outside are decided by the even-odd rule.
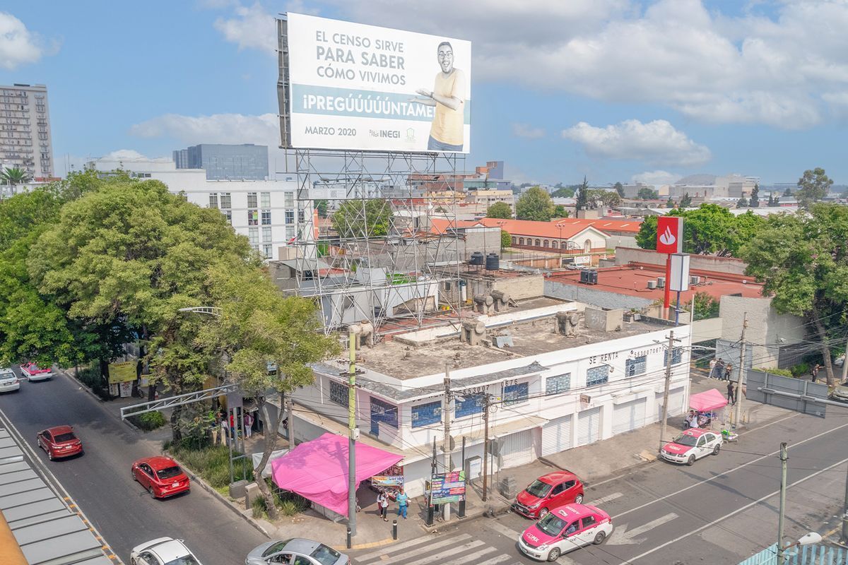
POLYGON ((414 97, 411 100, 436 108, 427 149, 460 152, 464 144, 466 75, 454 67, 454 47, 450 42, 438 44, 437 57, 442 70, 436 75, 432 91, 420 88, 416 92, 421 98, 414 97))

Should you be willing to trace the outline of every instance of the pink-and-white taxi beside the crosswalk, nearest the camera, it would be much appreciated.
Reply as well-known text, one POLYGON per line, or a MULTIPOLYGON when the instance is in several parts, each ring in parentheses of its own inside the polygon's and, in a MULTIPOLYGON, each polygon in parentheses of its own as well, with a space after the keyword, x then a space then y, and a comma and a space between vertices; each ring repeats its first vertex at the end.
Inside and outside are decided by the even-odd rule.
POLYGON ((610 535, 609 514, 587 504, 568 504, 555 508, 525 529, 518 538, 518 548, 538 561, 556 561, 568 551, 599 545, 610 535))

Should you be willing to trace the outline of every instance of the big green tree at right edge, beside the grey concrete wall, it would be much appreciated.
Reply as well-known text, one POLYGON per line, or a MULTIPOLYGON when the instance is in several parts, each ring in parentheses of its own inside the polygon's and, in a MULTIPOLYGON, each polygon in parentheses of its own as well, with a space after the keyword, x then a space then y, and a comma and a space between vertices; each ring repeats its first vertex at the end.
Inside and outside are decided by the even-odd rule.
POLYGON ((834 386, 829 343, 844 340, 848 208, 818 203, 806 214, 773 214, 740 257, 779 313, 801 316, 812 326, 828 386, 834 386))

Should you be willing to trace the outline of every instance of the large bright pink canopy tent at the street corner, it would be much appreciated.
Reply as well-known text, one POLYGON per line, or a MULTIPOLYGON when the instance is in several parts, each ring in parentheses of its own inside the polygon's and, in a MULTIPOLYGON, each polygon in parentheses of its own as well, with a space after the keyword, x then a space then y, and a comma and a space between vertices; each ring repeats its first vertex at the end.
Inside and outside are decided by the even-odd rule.
MULTIPOLYGON (((348 515, 348 438, 326 433, 271 461, 277 486, 348 515)), ((356 442, 356 487, 398 463, 402 456, 356 442)))

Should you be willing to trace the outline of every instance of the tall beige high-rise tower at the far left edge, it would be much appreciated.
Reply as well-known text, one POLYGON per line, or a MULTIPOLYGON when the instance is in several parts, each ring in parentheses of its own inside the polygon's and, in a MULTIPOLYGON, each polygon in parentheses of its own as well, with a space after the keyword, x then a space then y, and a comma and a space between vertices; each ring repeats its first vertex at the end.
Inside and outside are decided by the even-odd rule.
POLYGON ((47 86, 0 86, 0 164, 34 179, 53 176, 47 86))

